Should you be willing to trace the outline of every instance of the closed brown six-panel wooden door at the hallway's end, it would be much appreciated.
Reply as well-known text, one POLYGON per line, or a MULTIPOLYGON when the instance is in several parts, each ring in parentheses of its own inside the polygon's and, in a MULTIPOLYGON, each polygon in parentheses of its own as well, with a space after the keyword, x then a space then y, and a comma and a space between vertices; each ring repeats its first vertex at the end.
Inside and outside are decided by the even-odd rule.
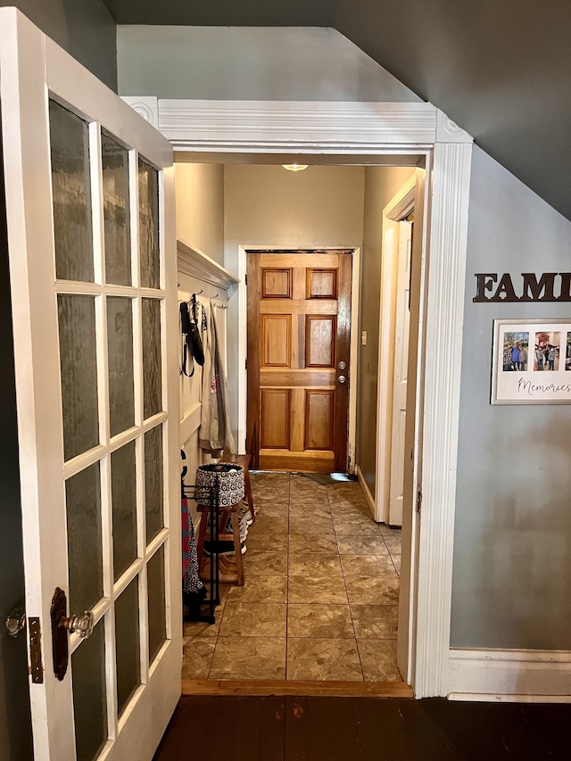
POLYGON ((262 470, 344 471, 352 252, 248 253, 246 447, 262 470))

